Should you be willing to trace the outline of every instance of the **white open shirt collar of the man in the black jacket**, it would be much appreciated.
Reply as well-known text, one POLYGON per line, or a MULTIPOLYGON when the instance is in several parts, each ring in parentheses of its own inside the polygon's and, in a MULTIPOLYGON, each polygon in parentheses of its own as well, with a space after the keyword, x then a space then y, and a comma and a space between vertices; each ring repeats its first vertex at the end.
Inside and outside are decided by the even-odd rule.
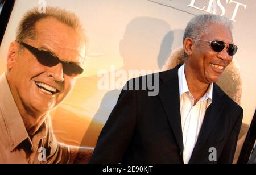
MULTIPOLYGON (((188 89, 188 84, 187 84, 187 79, 185 77, 185 71, 184 71, 184 67, 185 64, 183 64, 179 70, 178 70, 178 76, 179 76, 179 93, 180 93, 180 97, 182 94, 184 93, 190 93, 189 89, 188 89)), ((201 97, 200 101, 204 101, 207 100, 207 107, 210 106, 210 104, 212 103, 212 94, 213 94, 213 83, 210 83, 210 86, 208 87, 207 92, 203 95, 203 97, 201 97)))

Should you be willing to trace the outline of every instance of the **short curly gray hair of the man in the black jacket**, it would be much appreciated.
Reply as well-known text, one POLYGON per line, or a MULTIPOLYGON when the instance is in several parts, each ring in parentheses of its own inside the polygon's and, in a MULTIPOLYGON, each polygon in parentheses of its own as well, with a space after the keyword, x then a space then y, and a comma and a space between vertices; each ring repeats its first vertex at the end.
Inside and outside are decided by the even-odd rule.
MULTIPOLYGON (((202 35, 207 34, 208 26, 212 23, 220 24, 228 27, 232 31, 232 22, 224 16, 213 15, 213 14, 201 14, 192 18, 184 32, 183 44, 186 38, 199 39, 202 35)), ((195 41, 197 43, 197 41, 195 41)), ((184 53, 185 57, 187 54, 184 53)))

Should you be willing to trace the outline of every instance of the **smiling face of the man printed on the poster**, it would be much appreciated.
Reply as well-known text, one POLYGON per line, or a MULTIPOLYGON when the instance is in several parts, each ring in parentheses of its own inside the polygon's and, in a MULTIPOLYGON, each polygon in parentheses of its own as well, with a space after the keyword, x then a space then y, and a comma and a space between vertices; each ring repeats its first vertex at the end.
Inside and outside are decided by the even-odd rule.
MULTIPOLYGON (((24 43, 50 52, 61 61, 82 65, 85 41, 73 28, 55 18, 39 20, 35 28, 35 39, 26 39, 24 43)), ((35 55, 17 42, 10 46, 7 69, 15 101, 35 113, 46 113, 59 105, 75 84, 75 78, 63 72, 63 64, 40 64, 35 55), (18 54, 11 54, 12 49, 19 50, 18 54)))

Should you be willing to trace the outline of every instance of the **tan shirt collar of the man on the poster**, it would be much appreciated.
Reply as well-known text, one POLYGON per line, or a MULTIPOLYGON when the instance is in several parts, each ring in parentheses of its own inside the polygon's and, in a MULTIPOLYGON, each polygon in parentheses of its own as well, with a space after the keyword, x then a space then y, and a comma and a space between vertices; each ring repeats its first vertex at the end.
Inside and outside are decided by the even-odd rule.
MULTIPOLYGON (((18 107, 11 94, 9 83, 7 81, 5 73, 0 76, 0 108, 2 111, 3 119, 5 120, 6 129, 9 135, 9 143, 6 143, 6 148, 13 151, 20 143, 27 140, 32 149, 32 141, 28 136, 26 127, 24 125, 22 116, 19 113, 18 107)), ((46 136, 46 123, 42 124, 37 132, 40 131, 40 136, 44 138, 46 136)))

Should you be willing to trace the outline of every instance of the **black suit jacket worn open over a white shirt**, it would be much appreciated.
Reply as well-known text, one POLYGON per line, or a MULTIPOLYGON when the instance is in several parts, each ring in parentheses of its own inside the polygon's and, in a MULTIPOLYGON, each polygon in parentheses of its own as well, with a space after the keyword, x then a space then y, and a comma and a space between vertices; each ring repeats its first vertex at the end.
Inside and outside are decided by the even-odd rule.
MULTIPOLYGON (((148 90, 122 90, 90 163, 183 163, 179 67, 159 73, 155 97, 148 90)), ((242 115, 242 108, 213 84, 213 101, 189 163, 232 163, 242 115), (210 148, 216 148, 216 161, 209 160, 210 148)))

